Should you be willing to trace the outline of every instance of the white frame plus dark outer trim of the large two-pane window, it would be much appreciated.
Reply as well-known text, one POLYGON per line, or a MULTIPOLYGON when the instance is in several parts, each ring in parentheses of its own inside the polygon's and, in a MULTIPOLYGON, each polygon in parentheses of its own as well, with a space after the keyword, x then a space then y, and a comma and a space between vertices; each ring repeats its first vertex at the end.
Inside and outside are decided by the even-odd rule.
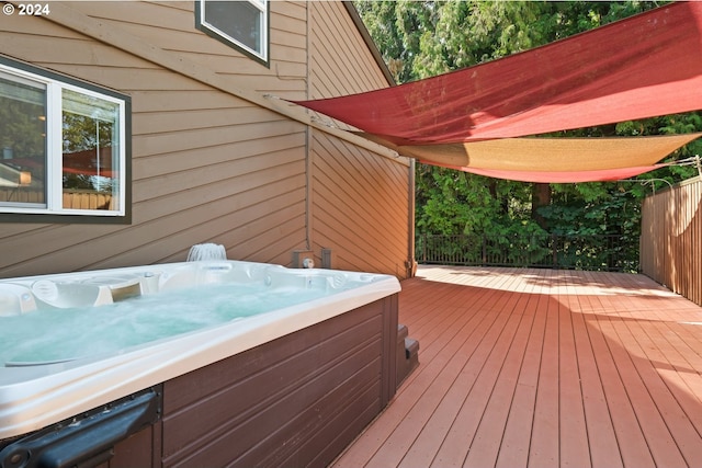
POLYGON ((132 99, 120 92, 69 78, 0 55, 0 71, 45 85, 46 93, 46 206, 0 206, 0 222, 131 224, 132 222, 132 99), (63 90, 94 96, 118 105, 118 209, 70 209, 63 194, 63 90))

